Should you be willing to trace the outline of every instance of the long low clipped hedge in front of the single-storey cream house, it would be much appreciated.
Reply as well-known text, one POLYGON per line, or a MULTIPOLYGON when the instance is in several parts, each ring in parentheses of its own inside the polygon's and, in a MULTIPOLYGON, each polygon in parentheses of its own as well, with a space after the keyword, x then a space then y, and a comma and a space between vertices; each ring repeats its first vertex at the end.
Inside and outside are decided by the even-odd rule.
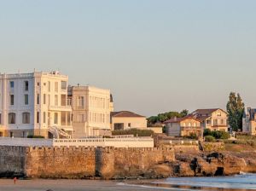
POLYGON ((113 130, 113 136, 122 136, 122 135, 133 135, 133 136, 153 136, 153 130, 139 130, 139 129, 129 129, 129 130, 113 130))

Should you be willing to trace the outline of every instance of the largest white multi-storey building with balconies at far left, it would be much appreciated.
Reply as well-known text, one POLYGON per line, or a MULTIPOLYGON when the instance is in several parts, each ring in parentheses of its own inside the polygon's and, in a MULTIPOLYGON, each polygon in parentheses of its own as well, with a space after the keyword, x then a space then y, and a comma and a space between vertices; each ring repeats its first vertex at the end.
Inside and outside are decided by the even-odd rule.
POLYGON ((72 135, 67 79, 59 72, 0 74, 0 136, 72 135))

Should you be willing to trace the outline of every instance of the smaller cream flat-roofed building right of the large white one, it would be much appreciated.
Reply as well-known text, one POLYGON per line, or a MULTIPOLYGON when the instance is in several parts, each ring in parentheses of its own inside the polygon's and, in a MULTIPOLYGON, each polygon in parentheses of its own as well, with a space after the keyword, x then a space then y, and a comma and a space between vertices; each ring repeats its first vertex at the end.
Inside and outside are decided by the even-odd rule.
POLYGON ((78 85, 69 88, 69 96, 73 103, 74 138, 110 135, 110 90, 78 85))

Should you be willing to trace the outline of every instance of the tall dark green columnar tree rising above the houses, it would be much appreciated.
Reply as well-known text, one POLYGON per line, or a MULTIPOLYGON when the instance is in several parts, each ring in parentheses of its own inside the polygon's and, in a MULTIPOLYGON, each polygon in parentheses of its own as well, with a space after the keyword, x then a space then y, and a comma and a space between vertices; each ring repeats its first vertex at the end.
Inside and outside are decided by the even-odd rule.
POLYGON ((228 121, 232 130, 242 129, 242 115, 244 113, 244 103, 241 96, 235 92, 230 92, 229 101, 227 103, 228 121))

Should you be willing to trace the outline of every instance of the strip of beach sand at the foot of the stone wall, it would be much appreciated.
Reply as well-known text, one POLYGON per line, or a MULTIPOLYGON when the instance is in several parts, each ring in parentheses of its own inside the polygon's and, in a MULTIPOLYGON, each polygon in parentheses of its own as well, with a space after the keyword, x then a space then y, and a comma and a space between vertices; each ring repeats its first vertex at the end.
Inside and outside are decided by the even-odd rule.
POLYGON ((114 181, 94 181, 94 180, 18 180, 14 184, 13 180, 0 179, 0 191, 113 191, 113 190, 163 190, 162 188, 142 188, 137 186, 129 186, 114 181))

